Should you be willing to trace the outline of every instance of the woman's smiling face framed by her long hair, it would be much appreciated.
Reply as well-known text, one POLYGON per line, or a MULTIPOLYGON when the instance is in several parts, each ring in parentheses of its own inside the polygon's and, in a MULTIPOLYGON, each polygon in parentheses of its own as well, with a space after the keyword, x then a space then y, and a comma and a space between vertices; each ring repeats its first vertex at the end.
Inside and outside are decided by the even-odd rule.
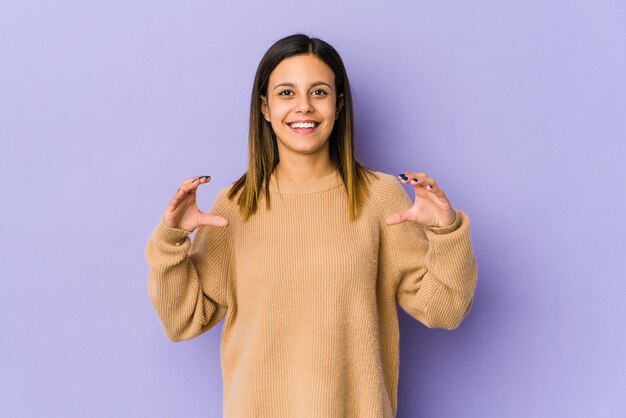
POLYGON ((272 124, 281 159, 287 154, 328 154, 341 96, 333 71, 313 54, 286 58, 274 68, 267 96, 261 96, 261 112, 272 124))

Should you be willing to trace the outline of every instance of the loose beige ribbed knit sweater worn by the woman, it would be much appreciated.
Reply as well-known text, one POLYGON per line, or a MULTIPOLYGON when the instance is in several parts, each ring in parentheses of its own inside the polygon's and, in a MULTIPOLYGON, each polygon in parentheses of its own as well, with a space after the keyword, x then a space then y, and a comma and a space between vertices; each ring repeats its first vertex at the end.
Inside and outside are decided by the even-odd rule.
POLYGON ((227 227, 189 232, 162 220, 148 240, 148 293, 168 338, 188 340, 225 318, 226 418, 395 417, 396 302, 427 327, 455 329, 477 278, 469 218, 388 226, 409 208, 399 181, 377 172, 353 223, 335 171, 271 179, 271 209, 243 222, 229 187, 210 213, 227 227))

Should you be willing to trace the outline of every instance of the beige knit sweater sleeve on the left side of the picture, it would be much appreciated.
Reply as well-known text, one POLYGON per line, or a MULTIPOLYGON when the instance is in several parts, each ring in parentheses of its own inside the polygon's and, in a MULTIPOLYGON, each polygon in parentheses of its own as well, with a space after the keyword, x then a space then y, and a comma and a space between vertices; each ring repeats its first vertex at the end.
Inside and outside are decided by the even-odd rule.
MULTIPOLYGON (((209 213, 229 221, 226 189, 209 213)), ((163 218, 148 239, 148 295, 171 341, 194 338, 226 314, 230 246, 228 228, 201 225, 189 231, 167 227, 163 218)))

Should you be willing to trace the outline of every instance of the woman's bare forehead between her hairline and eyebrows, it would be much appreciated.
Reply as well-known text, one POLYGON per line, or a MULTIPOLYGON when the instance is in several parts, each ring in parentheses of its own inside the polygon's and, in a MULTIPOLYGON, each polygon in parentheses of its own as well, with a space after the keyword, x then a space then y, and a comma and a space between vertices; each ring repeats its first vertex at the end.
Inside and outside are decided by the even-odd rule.
POLYGON ((295 55, 285 58, 270 74, 270 85, 282 82, 298 84, 310 81, 326 81, 333 85, 335 74, 328 65, 316 55, 295 55))

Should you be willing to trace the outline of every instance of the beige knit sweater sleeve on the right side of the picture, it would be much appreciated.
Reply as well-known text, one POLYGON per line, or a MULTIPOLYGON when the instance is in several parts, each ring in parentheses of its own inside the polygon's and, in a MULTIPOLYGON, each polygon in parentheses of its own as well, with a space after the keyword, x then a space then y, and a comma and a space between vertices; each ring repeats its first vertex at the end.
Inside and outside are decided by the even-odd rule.
MULTIPOLYGON (((400 183, 392 180, 386 187, 384 218, 413 205, 400 183)), ((477 279, 469 217, 456 210, 454 223, 447 227, 386 225, 384 218, 398 304, 429 328, 456 329, 472 306, 477 279)))

